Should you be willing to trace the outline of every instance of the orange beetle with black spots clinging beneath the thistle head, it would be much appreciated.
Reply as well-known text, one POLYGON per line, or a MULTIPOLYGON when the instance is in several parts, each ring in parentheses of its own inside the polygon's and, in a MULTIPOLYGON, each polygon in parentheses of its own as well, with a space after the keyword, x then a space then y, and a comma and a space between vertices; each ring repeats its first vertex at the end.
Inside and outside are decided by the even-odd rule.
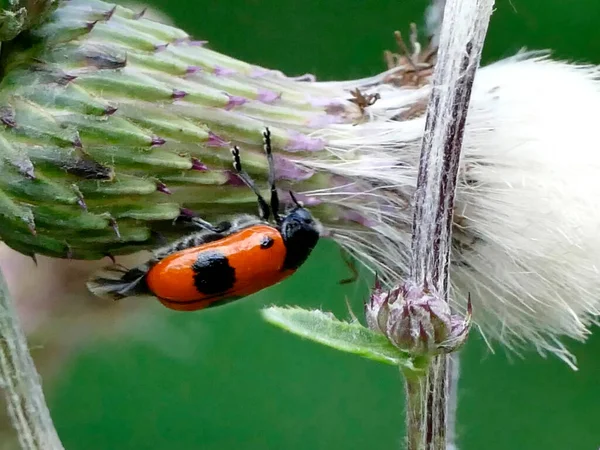
POLYGON ((154 295, 170 309, 196 311, 246 297, 292 275, 319 241, 320 228, 292 192, 294 207, 280 214, 268 128, 263 138, 270 204, 242 168, 239 147, 231 150, 238 177, 257 197, 258 216, 238 215, 217 225, 192 217, 197 232, 157 249, 133 269, 118 264, 105 268, 88 281, 88 289, 114 300, 154 295))

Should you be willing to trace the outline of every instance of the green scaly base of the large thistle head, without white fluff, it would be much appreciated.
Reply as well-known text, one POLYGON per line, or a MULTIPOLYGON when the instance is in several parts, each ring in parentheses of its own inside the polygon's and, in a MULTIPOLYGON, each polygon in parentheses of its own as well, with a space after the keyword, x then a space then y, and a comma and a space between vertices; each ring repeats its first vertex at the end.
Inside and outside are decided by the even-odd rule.
POLYGON ((393 189, 366 194, 383 183, 336 173, 365 157, 347 131, 331 134, 362 134, 352 128, 366 104, 349 89, 234 60, 100 1, 64 2, 14 43, 0 85, 0 236, 23 253, 98 259, 188 232, 173 224, 185 211, 206 220, 254 211, 229 149, 242 147, 247 171, 265 182, 265 126, 282 192, 298 192, 331 236, 377 235, 385 219, 366 219, 369 197, 370 208, 398 208, 393 189))

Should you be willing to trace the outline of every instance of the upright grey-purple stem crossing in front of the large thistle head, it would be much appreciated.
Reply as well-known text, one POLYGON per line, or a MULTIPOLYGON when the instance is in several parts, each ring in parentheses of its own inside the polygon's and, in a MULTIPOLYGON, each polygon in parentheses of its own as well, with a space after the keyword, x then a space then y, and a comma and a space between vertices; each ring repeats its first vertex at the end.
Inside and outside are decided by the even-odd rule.
MULTIPOLYGON (((448 301, 452 213, 462 140, 475 72, 494 0, 448 0, 440 33, 438 62, 427 107, 415 192, 410 276, 448 301)), ((425 426, 408 428, 408 442, 446 448, 448 355, 433 358, 427 393, 407 417, 425 416, 425 426), (422 411, 425 411, 423 414, 422 411), (411 436, 418 432, 420 436, 411 436)), ((414 403, 414 402, 413 402, 414 403)))

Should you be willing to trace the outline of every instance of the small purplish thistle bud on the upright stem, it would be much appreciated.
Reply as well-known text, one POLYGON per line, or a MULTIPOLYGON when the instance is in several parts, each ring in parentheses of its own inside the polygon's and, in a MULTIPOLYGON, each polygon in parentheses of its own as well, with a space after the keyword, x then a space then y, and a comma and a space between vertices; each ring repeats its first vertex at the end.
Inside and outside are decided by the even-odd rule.
POLYGON ((384 334, 392 344, 413 356, 450 353, 469 334, 471 313, 453 315, 448 303, 430 289, 406 282, 390 291, 375 287, 366 305, 369 328, 384 334))

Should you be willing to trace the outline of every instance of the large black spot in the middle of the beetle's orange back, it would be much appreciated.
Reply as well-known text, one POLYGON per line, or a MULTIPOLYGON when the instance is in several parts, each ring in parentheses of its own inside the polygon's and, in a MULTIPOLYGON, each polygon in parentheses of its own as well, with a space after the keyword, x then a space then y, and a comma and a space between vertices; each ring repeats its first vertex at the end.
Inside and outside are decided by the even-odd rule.
POLYGON ((204 295, 222 294, 235 284, 235 269, 221 252, 205 251, 192 264, 194 286, 204 295))

